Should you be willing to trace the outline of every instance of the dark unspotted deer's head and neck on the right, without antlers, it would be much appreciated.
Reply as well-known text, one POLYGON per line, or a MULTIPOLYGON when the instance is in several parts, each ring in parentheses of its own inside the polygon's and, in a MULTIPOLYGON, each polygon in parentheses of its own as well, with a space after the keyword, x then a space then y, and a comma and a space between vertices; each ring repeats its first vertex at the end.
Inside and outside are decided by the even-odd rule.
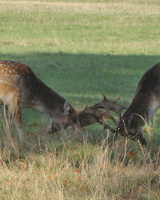
POLYGON ((134 98, 117 126, 117 132, 124 137, 147 145, 142 127, 160 107, 160 63, 148 69, 136 88, 134 98))

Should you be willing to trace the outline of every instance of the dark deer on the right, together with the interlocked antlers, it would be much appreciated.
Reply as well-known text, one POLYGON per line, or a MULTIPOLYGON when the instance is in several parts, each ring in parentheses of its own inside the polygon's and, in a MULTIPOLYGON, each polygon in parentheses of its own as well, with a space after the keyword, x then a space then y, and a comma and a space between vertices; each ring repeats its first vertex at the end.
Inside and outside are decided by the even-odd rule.
MULTIPOLYGON (((118 99, 117 99, 118 100, 118 99)), ((147 139, 142 127, 149 122, 154 113, 160 108, 160 63, 148 69, 140 79, 133 100, 129 107, 121 106, 116 101, 109 101, 104 96, 101 103, 86 107, 79 113, 81 127, 99 123, 105 129, 109 129, 116 136, 121 135, 133 141, 139 141, 141 145, 147 145, 147 139), (99 109, 105 109, 103 112, 99 109), (121 111, 126 109, 121 116, 121 111), (92 115, 86 115, 85 111, 92 110, 92 115), (114 111, 119 121, 111 116, 109 110, 114 111), (112 128, 106 122, 112 119, 116 128, 112 128)))

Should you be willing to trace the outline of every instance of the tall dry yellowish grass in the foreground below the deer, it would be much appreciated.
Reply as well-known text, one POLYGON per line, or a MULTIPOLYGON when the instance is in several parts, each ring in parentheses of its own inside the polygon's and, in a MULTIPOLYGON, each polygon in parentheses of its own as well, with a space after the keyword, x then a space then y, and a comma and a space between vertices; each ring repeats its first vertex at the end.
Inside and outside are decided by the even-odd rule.
POLYGON ((115 149, 66 143, 60 151, 30 151, 8 163, 1 157, 2 199, 158 200, 159 184, 159 153, 136 155, 119 142, 115 149))

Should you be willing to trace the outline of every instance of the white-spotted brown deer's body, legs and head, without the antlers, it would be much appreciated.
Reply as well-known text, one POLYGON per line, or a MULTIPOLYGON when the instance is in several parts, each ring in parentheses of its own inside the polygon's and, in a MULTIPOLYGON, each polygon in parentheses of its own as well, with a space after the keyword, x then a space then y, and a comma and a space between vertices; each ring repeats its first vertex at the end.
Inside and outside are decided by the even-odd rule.
POLYGON ((59 94, 45 85, 25 64, 0 61, 0 104, 6 121, 14 119, 20 143, 24 142, 22 108, 35 109, 50 117, 47 133, 78 123, 75 109, 59 94))

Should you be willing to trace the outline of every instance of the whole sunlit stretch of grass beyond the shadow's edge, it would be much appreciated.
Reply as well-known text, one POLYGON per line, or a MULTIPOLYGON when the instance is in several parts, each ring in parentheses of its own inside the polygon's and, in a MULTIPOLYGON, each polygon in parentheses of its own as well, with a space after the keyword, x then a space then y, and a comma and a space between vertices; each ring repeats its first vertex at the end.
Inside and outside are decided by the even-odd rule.
POLYGON ((2 1, 0 12, 0 43, 17 53, 158 54, 158 3, 2 1))

